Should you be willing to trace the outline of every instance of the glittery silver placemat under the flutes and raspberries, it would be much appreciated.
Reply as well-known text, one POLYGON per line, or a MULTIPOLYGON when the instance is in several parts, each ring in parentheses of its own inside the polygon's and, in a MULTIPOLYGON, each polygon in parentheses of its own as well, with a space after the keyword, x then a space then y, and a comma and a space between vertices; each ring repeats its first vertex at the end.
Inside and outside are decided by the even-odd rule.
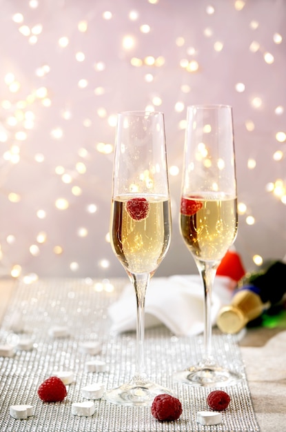
POLYGON ((134 364, 135 334, 110 331, 108 306, 121 293, 126 281, 114 279, 99 283, 91 279, 43 279, 15 288, 0 329, 0 344, 14 346, 13 357, 0 357, 0 431, 1 432, 252 432, 259 431, 245 376, 240 349, 233 337, 214 335, 213 345, 225 365, 243 373, 243 380, 227 387, 231 403, 223 411, 223 422, 201 426, 197 411, 207 410, 210 389, 174 383, 172 374, 197 362, 203 348, 201 336, 174 337, 164 326, 145 332, 145 362, 149 377, 173 389, 183 405, 176 422, 158 422, 149 407, 117 406, 96 400, 91 417, 72 415, 72 403, 83 402, 81 389, 103 383, 112 389, 129 380, 134 364), (113 289, 114 288, 114 289, 113 289), (68 330, 65 337, 54 337, 53 326, 68 330), (19 340, 32 338, 32 349, 17 348, 19 340), (101 351, 90 355, 81 350, 83 342, 99 342, 101 351), (88 372, 85 362, 103 360, 106 371, 88 372), (37 389, 53 371, 71 370, 74 382, 67 386, 68 396, 61 403, 44 404, 37 389), (10 416, 11 405, 31 404, 34 415, 27 420, 10 416))

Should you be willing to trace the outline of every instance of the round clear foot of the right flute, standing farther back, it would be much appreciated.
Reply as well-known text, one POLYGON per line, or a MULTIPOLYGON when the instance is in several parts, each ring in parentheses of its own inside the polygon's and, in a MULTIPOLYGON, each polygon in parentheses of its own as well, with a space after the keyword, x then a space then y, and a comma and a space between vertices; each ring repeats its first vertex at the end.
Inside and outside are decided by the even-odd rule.
POLYGON ((242 379, 239 373, 223 369, 221 366, 192 366, 174 374, 174 380, 191 386, 226 387, 233 386, 242 379))

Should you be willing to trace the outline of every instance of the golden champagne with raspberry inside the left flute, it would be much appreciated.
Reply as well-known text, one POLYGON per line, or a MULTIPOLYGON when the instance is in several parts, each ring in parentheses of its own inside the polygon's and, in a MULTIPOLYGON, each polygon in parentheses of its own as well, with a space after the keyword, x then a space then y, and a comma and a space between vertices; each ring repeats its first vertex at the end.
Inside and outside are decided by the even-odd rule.
POLYGON ((128 272, 154 273, 170 246, 170 230, 169 199, 125 196, 112 201, 111 244, 128 272))

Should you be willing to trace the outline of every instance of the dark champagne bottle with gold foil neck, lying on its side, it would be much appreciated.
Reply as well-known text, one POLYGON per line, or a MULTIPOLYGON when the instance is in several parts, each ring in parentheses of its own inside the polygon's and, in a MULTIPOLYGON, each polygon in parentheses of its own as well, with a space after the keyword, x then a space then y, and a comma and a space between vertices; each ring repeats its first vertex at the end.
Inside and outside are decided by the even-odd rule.
POLYGON ((223 333, 238 333, 248 322, 281 302, 285 293, 285 263, 275 261, 260 272, 247 273, 238 282, 231 304, 219 311, 216 324, 223 333))

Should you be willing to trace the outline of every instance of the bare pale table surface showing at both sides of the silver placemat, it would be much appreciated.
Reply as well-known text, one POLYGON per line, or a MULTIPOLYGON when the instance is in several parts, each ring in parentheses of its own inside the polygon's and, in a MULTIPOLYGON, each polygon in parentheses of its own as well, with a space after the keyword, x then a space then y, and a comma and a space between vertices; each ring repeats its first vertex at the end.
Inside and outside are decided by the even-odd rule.
MULTIPOLYGON (((0 280, 0 323, 16 282, 0 280)), ((247 328, 239 342, 261 432, 285 432, 285 328, 247 328)))

